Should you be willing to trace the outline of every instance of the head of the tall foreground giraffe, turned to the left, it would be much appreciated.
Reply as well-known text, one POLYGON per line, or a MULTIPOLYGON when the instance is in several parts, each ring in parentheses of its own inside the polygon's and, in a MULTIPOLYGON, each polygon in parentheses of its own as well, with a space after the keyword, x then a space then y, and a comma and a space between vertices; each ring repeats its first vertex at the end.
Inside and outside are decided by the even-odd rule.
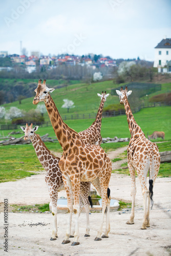
POLYGON ((52 93, 54 90, 54 88, 48 88, 46 86, 46 79, 44 79, 43 83, 41 83, 41 79, 39 79, 38 86, 34 90, 36 96, 33 99, 33 104, 36 105, 39 101, 45 101, 48 98, 49 93, 52 93))

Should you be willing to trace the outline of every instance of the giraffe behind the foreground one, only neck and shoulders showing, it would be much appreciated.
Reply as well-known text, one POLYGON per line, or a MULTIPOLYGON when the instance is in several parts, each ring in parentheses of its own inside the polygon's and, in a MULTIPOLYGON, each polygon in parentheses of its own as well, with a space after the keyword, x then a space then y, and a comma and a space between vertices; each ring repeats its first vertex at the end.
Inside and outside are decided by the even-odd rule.
POLYGON ((106 101, 106 98, 109 96, 109 94, 106 94, 106 92, 104 93, 102 92, 101 95, 99 93, 97 95, 101 98, 101 102, 96 115, 96 120, 92 123, 92 125, 88 129, 82 132, 79 132, 78 134, 81 136, 81 139, 83 140, 84 143, 95 144, 100 146, 102 141, 101 134, 100 134, 102 111, 103 111, 104 102, 106 101))

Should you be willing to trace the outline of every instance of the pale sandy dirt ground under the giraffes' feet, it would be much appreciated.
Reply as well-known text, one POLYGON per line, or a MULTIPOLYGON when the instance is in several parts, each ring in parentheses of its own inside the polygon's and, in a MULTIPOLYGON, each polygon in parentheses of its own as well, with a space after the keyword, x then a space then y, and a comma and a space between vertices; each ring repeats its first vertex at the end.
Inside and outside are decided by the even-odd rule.
MULTIPOLYGON (((111 158, 119 156, 125 148, 108 155, 111 158)), ((117 162, 116 162, 117 163, 117 162)), ((115 164, 115 163, 113 163, 115 164)), ((116 166, 113 166, 115 168, 116 166)), ((154 186, 154 206, 150 213, 151 227, 141 230, 143 219, 143 198, 141 188, 136 178, 137 195, 135 207, 135 224, 126 225, 130 209, 110 212, 111 231, 108 239, 94 241, 99 227, 101 213, 92 212, 90 215, 90 237, 84 237, 86 232, 86 214, 80 215, 80 245, 71 243, 62 245, 65 237, 68 215, 57 215, 58 238, 50 241, 53 217, 48 213, 10 212, 9 213, 9 245, 8 255, 135 255, 161 256, 171 254, 171 178, 157 178, 154 186)), ((123 201, 131 200, 131 178, 120 174, 112 174, 110 181, 111 197, 123 201)), ((58 197, 66 196, 60 191, 58 197)), ((50 202, 48 189, 45 184, 45 172, 27 177, 15 182, 5 182, 0 185, 0 202, 7 198, 9 204, 34 205, 50 202)), ((2 205, 3 206, 3 205, 2 205)), ((1 207, 2 209, 2 207, 1 207)), ((4 213, 1 210, 1 245, 0 254, 4 251, 4 213)), ((73 216, 74 220, 74 216, 73 216)), ((74 221, 73 221, 74 223, 74 221)), ((105 223, 103 225, 103 230, 105 223)), ((73 238, 71 238, 71 242, 73 238)))

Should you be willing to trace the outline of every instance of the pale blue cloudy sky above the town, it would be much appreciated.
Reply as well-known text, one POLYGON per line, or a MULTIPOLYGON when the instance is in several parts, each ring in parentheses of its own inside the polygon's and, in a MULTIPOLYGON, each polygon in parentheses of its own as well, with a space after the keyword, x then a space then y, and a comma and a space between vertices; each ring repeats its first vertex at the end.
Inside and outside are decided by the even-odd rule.
POLYGON ((154 60, 171 38, 170 0, 1 0, 0 51, 154 60))

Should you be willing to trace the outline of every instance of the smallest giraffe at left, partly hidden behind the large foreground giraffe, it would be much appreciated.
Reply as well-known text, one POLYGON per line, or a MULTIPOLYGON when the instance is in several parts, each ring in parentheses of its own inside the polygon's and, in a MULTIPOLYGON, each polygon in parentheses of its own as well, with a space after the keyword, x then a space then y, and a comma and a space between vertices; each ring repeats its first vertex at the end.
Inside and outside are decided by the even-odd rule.
MULTIPOLYGON (((35 134, 35 131, 37 131, 38 126, 32 127, 33 123, 29 126, 28 123, 26 123, 26 127, 20 126, 20 128, 24 131, 25 137, 24 140, 30 139, 35 153, 38 157, 38 160, 40 161, 42 167, 46 170, 46 176, 45 176, 45 182, 48 186, 49 190, 49 196, 51 198, 50 205, 52 206, 52 215, 54 217, 53 221, 53 231, 52 231, 52 237, 51 241, 56 240, 57 236, 57 198, 58 198, 58 192, 61 190, 65 190, 65 186, 63 185, 62 180, 62 173, 59 168, 59 157, 55 157, 51 152, 48 150, 45 143, 41 140, 40 136, 35 134)), ((89 182, 81 182, 80 184, 80 197, 79 197, 79 204, 80 204, 80 212, 83 208, 86 210, 86 216, 87 216, 87 227, 86 227, 86 234, 85 237, 90 237, 90 224, 89 224, 89 205, 92 202, 91 198, 89 197, 89 191, 90 191, 90 183, 89 182), (89 204, 90 201, 90 204, 89 204)), ((70 237, 73 237, 72 235, 70 237)))

